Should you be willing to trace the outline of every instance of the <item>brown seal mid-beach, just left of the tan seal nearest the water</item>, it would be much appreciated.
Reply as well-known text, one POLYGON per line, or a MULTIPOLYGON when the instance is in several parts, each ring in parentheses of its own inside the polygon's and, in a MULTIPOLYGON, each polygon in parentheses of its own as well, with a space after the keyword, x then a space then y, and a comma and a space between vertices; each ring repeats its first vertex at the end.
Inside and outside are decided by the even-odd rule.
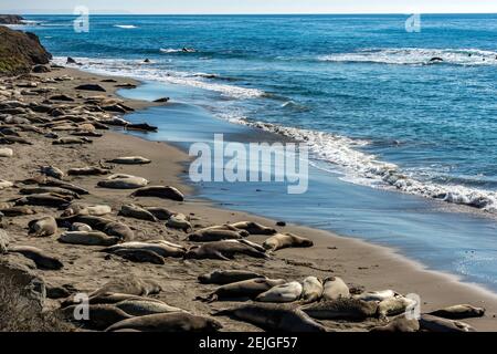
POLYGON ((267 254, 257 251, 251 246, 241 242, 230 242, 230 241, 215 241, 204 243, 202 246, 191 247, 186 259, 219 259, 229 261, 235 257, 235 254, 245 254, 254 258, 267 259, 267 254))

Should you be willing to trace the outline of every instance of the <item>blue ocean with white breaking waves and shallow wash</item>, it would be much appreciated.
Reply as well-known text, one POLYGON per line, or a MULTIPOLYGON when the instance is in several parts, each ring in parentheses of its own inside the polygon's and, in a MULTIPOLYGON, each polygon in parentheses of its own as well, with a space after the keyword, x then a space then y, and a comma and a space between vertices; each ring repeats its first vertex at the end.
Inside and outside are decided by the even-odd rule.
POLYGON ((56 63, 146 83, 124 95, 170 95, 129 116, 160 127, 147 138, 264 129, 310 149, 306 195, 204 184, 201 197, 497 291, 497 15, 422 14, 420 32, 408 17, 93 15, 76 33, 74 17, 32 15, 27 29, 56 63))

